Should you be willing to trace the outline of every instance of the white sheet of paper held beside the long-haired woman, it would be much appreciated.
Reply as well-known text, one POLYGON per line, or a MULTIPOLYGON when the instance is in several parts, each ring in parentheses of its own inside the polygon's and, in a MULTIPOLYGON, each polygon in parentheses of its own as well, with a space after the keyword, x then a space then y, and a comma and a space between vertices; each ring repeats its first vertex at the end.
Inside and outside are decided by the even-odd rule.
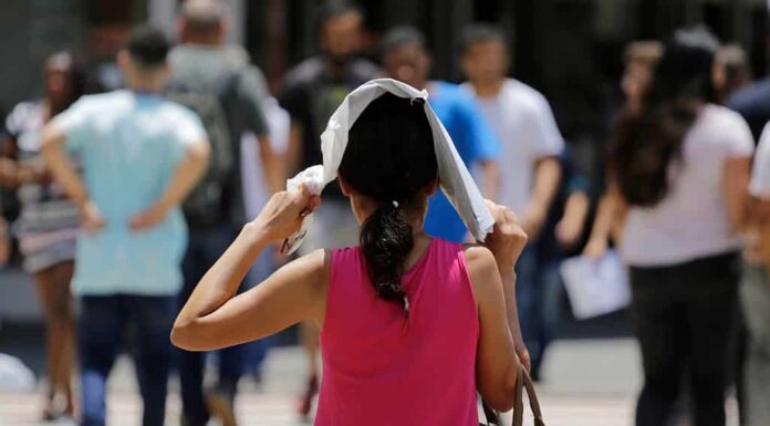
POLYGON ((579 320, 618 311, 631 302, 628 272, 614 250, 597 262, 583 256, 566 259, 560 272, 579 320))

